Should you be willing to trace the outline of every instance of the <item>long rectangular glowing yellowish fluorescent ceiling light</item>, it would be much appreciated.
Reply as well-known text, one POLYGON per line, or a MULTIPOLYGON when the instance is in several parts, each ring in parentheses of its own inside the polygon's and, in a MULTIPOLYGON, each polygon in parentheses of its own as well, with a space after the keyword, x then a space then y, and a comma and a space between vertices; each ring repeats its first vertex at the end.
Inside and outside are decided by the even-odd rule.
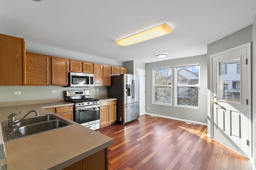
POLYGON ((119 39, 115 43, 117 45, 121 45, 124 47, 127 45, 132 45, 135 43, 146 41, 148 39, 152 39, 155 37, 160 37, 162 35, 166 35, 171 32, 172 32, 172 28, 167 23, 164 23, 162 25, 158 25, 156 27, 147 29, 146 31, 142 31, 140 33, 131 35, 129 37, 119 39))

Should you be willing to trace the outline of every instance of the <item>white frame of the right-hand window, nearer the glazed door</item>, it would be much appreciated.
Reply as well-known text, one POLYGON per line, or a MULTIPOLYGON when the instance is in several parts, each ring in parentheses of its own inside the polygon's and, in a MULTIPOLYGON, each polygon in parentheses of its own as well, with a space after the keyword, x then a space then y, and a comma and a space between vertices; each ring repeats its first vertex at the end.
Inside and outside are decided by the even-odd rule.
POLYGON ((200 109, 200 63, 192 63, 192 64, 180 64, 175 65, 175 90, 174 90, 174 106, 176 107, 185 107, 190 109, 200 109), (190 67, 190 66, 199 66, 199 72, 198 72, 198 84, 196 85, 178 85, 178 67, 190 67), (178 87, 198 87, 198 106, 188 106, 188 105, 178 105, 178 87))

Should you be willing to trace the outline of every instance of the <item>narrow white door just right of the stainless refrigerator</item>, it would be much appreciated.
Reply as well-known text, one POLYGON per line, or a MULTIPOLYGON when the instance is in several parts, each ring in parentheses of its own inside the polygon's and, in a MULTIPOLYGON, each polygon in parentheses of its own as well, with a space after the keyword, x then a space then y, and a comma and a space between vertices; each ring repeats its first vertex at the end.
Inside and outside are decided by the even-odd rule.
POLYGON ((140 76, 140 115, 145 114, 145 70, 136 69, 140 76))

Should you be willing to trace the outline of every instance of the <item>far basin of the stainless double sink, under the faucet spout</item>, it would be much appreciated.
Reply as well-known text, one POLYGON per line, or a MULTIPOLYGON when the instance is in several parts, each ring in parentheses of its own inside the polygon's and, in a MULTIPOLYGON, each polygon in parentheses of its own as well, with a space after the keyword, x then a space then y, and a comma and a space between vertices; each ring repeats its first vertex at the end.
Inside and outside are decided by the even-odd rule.
MULTIPOLYGON (((39 122, 44 122, 44 121, 50 121, 54 120, 56 117, 53 115, 40 115, 40 116, 34 116, 34 117, 26 117, 20 123, 17 123, 17 126, 24 126, 24 125, 30 125, 33 123, 39 123, 39 122)), ((17 119, 16 121, 18 121, 17 119)))

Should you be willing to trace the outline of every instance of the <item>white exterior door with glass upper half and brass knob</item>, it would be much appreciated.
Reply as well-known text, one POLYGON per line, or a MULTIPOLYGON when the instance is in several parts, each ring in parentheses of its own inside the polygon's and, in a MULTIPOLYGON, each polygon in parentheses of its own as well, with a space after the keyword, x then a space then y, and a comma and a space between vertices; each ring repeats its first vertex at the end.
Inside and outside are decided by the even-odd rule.
POLYGON ((250 43, 210 57, 213 138, 248 158, 250 43))

